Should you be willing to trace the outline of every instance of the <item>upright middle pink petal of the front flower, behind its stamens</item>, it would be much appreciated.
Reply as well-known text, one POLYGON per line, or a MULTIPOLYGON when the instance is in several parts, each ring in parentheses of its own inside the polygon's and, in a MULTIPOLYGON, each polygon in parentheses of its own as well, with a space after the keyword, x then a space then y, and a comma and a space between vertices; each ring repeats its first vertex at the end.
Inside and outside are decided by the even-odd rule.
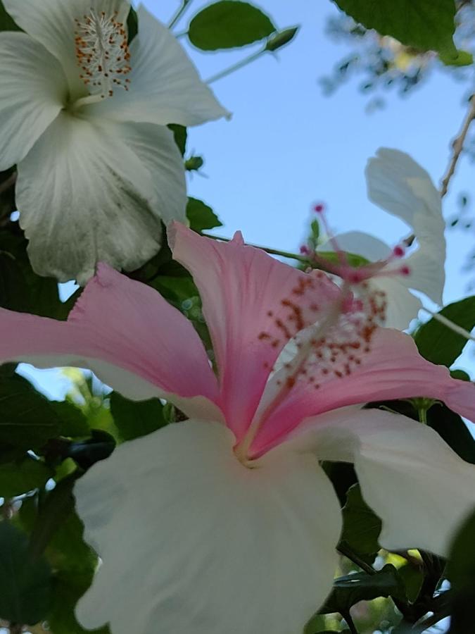
POLYGON ((216 242, 174 223, 169 242, 175 260, 194 276, 213 339, 227 425, 239 441, 251 423, 274 361, 299 321, 315 321, 315 306, 334 301, 338 289, 260 249, 241 234, 216 242), (298 311, 298 316, 296 312, 298 311))

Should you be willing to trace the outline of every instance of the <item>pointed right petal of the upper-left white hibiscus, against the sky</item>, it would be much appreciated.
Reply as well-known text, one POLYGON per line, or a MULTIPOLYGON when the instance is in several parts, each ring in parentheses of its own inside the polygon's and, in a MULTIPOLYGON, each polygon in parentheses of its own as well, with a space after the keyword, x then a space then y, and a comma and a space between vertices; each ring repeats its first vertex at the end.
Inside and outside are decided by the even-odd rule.
POLYGON ((110 99, 86 106, 87 111, 160 125, 198 125, 229 116, 167 27, 144 6, 138 15, 139 33, 130 46, 129 91, 117 89, 110 99))

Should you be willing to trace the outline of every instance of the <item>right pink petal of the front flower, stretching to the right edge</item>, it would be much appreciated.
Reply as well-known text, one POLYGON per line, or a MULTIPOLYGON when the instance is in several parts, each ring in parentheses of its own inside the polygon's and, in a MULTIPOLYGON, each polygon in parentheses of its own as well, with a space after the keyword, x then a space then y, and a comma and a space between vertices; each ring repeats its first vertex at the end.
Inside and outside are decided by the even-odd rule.
POLYGON ((461 416, 475 421, 473 383, 452 379, 447 368, 426 361, 409 335, 379 328, 370 352, 350 375, 319 379, 317 389, 308 381, 298 380, 262 423, 251 452, 260 455, 278 445, 308 416, 346 405, 411 397, 440 399, 461 416))

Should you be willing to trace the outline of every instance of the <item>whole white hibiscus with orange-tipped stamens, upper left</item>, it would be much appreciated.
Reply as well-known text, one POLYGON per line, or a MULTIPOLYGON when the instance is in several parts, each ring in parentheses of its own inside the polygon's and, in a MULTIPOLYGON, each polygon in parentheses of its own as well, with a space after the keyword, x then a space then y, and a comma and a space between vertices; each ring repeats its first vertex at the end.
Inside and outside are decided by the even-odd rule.
POLYGON ((227 116, 165 26, 126 0, 4 0, 25 32, 0 33, 0 170, 41 275, 83 283, 104 261, 133 270, 158 251, 160 219, 184 220, 169 123, 227 116))

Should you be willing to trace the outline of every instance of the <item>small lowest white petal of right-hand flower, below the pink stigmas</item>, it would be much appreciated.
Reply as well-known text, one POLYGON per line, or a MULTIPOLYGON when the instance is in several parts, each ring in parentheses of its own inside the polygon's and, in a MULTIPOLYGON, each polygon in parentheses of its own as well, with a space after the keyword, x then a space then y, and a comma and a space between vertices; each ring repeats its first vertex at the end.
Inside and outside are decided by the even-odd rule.
MULTIPOLYGON (((422 308, 422 302, 407 290, 405 282, 408 280, 404 275, 375 278, 369 281, 372 289, 382 290, 386 293, 388 301, 386 321, 384 322, 386 328, 406 330, 422 308)), ((412 288, 412 282, 409 282, 408 285, 412 288)))

